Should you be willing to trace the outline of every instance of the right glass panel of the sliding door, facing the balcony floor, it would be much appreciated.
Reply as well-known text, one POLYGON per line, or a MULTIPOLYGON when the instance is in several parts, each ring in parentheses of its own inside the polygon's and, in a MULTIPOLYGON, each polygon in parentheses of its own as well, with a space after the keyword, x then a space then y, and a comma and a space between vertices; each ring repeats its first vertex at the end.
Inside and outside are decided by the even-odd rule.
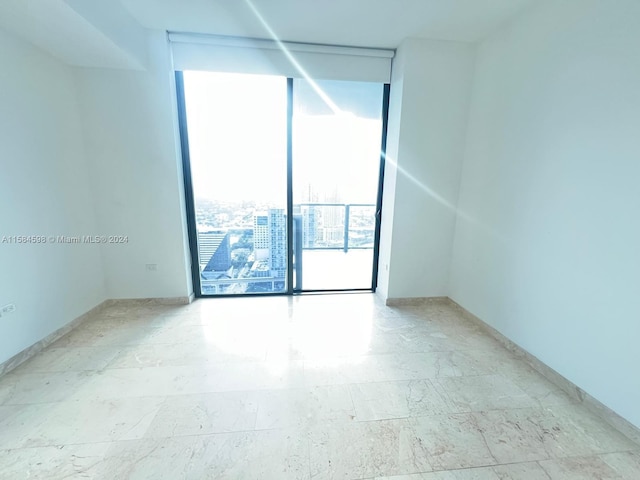
POLYGON ((370 289, 384 86, 293 82, 294 290, 370 289))

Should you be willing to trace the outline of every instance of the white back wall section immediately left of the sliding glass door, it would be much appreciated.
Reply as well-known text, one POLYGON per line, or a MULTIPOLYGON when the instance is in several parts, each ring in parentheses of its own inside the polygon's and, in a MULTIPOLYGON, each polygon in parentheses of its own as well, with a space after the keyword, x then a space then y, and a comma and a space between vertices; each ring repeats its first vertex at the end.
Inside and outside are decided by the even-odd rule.
POLYGON ((148 46, 146 71, 77 71, 98 225, 128 237, 103 248, 109 298, 191 293, 166 34, 150 32, 148 46))

